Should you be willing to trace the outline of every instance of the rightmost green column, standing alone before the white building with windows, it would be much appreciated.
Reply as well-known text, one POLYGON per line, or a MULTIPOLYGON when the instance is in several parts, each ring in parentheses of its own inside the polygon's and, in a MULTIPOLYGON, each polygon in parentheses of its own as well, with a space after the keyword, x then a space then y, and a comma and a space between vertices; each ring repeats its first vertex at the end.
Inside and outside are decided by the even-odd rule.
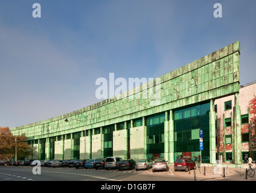
POLYGON ((235 106, 234 113, 234 163, 242 163, 242 150, 241 150, 241 110, 238 105, 238 92, 235 92, 235 106))

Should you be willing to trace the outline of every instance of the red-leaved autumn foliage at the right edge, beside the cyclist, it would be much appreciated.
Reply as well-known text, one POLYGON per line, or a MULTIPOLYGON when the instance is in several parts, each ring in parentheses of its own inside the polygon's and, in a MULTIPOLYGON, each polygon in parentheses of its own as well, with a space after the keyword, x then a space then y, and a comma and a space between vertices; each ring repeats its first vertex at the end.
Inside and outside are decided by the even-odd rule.
POLYGON ((256 96, 249 101, 247 106, 250 108, 250 133, 251 133, 251 148, 254 150, 256 148, 256 96))

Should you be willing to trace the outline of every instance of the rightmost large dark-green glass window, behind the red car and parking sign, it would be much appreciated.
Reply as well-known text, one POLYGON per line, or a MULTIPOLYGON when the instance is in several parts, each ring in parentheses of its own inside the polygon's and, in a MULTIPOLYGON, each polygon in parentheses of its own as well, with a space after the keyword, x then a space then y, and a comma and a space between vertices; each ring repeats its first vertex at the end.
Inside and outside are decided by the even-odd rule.
MULTIPOLYGON (((203 157, 210 155, 210 103, 185 107, 174 111, 174 153, 194 161, 200 155, 199 130, 203 130, 203 157)), ((179 157, 179 156, 176 156, 179 157)), ((205 159, 208 162, 209 159, 205 159)))

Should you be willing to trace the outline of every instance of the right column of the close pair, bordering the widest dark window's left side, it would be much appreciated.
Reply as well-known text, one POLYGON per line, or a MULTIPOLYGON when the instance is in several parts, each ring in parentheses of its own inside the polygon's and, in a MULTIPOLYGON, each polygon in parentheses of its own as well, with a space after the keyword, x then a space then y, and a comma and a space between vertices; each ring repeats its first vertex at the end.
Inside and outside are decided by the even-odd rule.
POLYGON ((174 163, 174 120, 173 110, 170 110, 169 121, 169 163, 174 163))

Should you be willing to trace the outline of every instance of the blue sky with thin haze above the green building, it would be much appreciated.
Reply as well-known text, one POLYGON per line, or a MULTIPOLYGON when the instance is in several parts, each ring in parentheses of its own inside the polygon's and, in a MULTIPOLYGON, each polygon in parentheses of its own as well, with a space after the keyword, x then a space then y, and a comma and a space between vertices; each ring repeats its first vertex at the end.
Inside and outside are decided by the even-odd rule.
POLYGON ((157 78, 240 41, 240 84, 256 80, 256 1, 0 1, 0 126, 99 100, 97 78, 157 78), (222 4, 222 18, 213 16, 222 4), (41 5, 34 18, 32 5, 41 5))

